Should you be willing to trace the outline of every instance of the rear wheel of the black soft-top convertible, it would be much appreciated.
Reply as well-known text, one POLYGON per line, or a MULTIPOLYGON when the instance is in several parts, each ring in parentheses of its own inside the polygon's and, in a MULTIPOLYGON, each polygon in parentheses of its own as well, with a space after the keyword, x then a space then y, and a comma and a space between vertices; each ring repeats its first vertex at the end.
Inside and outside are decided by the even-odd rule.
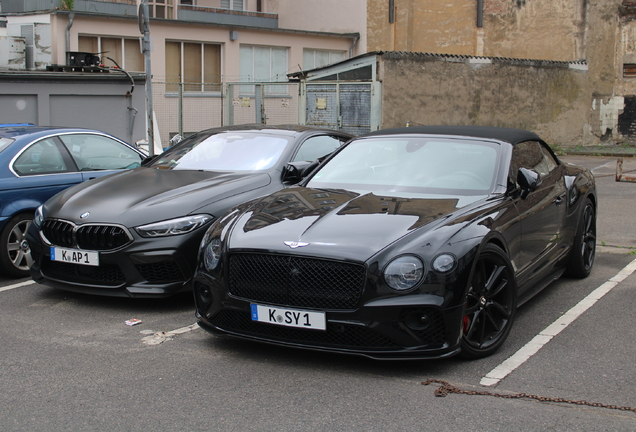
POLYGON ((590 275, 596 254, 596 212, 589 198, 585 200, 567 265, 568 276, 583 279, 590 275))

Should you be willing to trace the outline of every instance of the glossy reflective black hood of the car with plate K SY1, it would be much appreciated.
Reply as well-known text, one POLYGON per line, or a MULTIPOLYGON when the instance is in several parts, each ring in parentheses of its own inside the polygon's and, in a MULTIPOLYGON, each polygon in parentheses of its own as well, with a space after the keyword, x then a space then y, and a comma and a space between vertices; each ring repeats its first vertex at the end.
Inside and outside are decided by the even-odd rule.
POLYGON ((359 260, 483 198, 288 188, 240 216, 230 248, 331 257, 337 249, 341 258, 359 260))

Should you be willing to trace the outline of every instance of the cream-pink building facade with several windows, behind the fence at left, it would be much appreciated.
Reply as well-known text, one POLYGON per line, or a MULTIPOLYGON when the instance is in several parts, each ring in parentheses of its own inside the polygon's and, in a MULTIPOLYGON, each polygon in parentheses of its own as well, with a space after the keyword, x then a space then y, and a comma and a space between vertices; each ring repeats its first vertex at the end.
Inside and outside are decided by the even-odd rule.
MULTIPOLYGON (((297 91, 284 84, 287 74, 345 60, 366 46, 366 15, 360 13, 366 0, 148 4, 153 110, 164 146, 177 133, 258 121, 256 110, 265 104, 280 108, 280 118, 272 121, 296 123, 297 91), (239 84, 248 82, 270 85, 239 84)), ((145 72, 140 0, 2 0, 1 5, 4 33, 27 47, 26 70, 63 70, 74 62, 87 66, 80 72, 99 65, 145 72)))

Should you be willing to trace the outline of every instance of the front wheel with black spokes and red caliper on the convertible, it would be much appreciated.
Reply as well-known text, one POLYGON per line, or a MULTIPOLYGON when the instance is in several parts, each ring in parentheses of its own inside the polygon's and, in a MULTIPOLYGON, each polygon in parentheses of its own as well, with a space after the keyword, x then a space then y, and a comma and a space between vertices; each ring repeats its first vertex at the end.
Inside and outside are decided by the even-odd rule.
POLYGON ((477 257, 462 314, 460 355, 478 359, 504 343, 517 312, 517 283, 506 253, 485 245, 477 257))

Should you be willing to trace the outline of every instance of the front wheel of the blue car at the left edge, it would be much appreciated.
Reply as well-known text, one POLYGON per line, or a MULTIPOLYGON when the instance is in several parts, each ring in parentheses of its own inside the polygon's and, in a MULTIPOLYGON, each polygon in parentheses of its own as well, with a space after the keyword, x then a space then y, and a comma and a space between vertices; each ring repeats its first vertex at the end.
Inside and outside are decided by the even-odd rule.
POLYGON ((29 267, 33 259, 26 242, 26 232, 32 221, 33 214, 17 214, 9 219, 0 234, 0 267, 8 276, 29 276, 29 267))

